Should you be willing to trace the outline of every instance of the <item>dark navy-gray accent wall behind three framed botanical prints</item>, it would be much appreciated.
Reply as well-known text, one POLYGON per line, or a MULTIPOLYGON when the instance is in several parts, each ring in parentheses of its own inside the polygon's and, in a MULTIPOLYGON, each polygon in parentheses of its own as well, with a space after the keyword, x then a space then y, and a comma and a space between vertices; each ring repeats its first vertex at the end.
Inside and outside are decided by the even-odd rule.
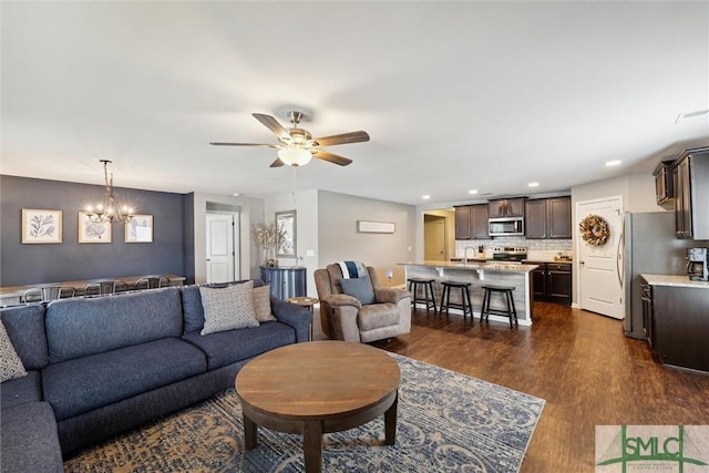
POLYGON ((104 186, 0 176, 0 286, 153 274, 185 275, 183 194, 116 187, 136 214, 153 215, 153 243, 126 244, 124 225, 112 225, 112 243, 80 244, 79 210, 97 202, 104 186), (22 209, 62 210, 62 243, 23 245, 22 209))

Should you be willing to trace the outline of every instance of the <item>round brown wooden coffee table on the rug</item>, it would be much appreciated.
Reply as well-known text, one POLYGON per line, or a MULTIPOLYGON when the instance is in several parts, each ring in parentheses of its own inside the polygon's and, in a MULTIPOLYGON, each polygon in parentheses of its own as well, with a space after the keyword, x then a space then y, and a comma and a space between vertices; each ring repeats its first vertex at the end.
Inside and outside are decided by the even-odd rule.
POLYGON ((397 436, 399 364, 386 351, 348 341, 281 347, 249 361, 236 376, 246 448, 257 425, 302 434, 307 472, 322 467, 322 434, 384 414, 384 443, 397 436))

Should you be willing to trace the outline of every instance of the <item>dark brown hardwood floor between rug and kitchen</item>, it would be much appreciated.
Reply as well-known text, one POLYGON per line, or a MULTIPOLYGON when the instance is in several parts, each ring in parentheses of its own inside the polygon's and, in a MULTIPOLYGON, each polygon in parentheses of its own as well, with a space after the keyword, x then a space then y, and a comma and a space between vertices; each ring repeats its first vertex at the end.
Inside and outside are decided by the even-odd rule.
POLYGON ((709 424, 708 374, 656 363, 620 320, 545 302, 534 315, 510 329, 417 310, 411 333, 372 345, 545 399, 522 472, 593 472, 596 425, 709 424))

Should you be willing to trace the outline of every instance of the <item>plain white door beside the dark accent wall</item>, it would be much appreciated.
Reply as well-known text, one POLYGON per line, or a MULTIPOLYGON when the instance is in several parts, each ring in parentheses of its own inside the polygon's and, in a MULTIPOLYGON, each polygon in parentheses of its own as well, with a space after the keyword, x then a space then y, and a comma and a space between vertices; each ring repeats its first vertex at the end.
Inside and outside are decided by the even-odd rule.
POLYGON ((234 280, 235 218, 232 214, 207 214, 207 282, 234 280))

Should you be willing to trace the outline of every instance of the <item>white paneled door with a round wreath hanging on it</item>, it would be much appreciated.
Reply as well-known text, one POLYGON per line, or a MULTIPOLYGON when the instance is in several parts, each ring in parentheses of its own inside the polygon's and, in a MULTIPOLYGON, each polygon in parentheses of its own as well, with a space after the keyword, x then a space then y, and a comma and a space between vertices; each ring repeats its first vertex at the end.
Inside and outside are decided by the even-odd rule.
POLYGON ((610 235, 600 246, 587 245, 580 237, 577 239, 580 308, 623 319, 623 196, 576 203, 576 228, 588 215, 598 215, 606 220, 610 235))

